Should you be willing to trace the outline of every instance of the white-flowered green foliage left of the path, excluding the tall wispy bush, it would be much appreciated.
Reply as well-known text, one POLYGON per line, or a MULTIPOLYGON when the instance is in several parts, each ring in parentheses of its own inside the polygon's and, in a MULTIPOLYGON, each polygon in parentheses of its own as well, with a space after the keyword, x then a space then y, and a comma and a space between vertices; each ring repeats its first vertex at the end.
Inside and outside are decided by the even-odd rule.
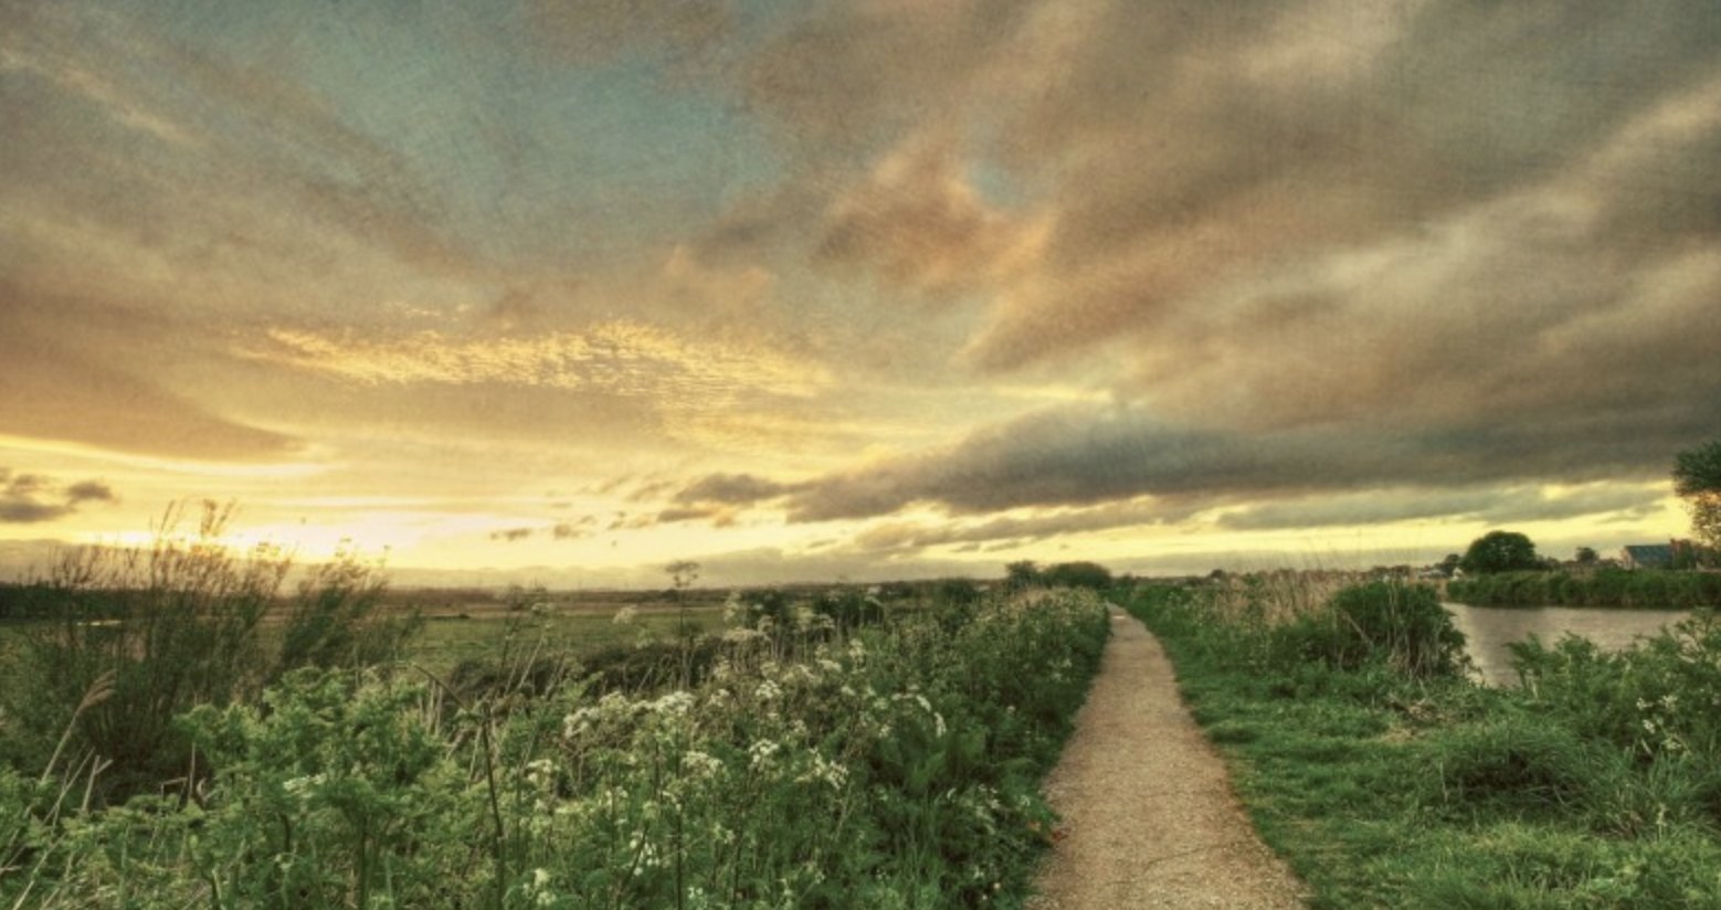
POLYGON ((53 815, 0 776, 0 905, 1010 905, 1110 623, 1084 593, 971 607, 788 652, 737 626, 702 683, 640 693, 289 673, 182 717, 217 769, 186 802, 53 815))

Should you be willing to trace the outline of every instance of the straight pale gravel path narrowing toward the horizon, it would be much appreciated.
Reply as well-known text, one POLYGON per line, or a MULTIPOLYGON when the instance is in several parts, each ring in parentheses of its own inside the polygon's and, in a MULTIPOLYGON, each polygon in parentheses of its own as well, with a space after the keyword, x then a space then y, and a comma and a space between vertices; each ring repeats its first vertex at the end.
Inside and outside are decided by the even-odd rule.
POLYGON ((1064 838, 1039 870, 1031 910, 1303 907, 1303 884, 1237 807, 1158 640, 1115 607, 1100 676, 1046 798, 1064 838))

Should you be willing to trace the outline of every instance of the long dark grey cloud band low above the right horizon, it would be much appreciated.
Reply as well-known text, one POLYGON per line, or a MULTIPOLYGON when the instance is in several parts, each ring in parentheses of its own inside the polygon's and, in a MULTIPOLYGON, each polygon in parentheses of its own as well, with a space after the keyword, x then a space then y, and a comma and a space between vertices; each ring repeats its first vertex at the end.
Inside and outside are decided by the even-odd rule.
POLYGON ((823 521, 890 514, 910 504, 972 514, 1139 495, 1222 504, 1408 482, 1652 480, 1664 477, 1675 449, 1668 427, 1676 437, 1700 439, 1716 425, 1721 399, 1704 408, 1645 406, 1642 413, 1585 420, 1551 415, 1501 427, 1337 425, 1251 433, 1189 430, 1141 409, 1064 408, 976 432, 947 449, 805 482, 786 504, 795 521, 823 521))

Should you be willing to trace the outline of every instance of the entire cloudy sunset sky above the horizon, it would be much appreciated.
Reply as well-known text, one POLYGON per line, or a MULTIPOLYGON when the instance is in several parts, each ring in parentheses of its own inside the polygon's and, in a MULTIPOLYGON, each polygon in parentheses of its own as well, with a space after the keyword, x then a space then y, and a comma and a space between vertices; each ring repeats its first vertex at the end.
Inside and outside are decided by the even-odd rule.
POLYGON ((1712 0, 0 0, 0 573, 404 581, 1687 530, 1712 0))

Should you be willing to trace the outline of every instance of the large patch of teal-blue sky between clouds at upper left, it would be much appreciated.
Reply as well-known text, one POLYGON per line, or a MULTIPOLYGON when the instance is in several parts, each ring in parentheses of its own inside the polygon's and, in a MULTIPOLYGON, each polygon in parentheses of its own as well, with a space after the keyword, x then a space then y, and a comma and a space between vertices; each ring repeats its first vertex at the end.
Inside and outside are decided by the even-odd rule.
POLYGON ((668 77, 645 55, 577 65, 520 46, 520 22, 496 7, 236 9, 153 12, 193 48, 305 86, 398 157, 439 229, 503 263, 661 246, 781 169, 723 86, 668 77))

